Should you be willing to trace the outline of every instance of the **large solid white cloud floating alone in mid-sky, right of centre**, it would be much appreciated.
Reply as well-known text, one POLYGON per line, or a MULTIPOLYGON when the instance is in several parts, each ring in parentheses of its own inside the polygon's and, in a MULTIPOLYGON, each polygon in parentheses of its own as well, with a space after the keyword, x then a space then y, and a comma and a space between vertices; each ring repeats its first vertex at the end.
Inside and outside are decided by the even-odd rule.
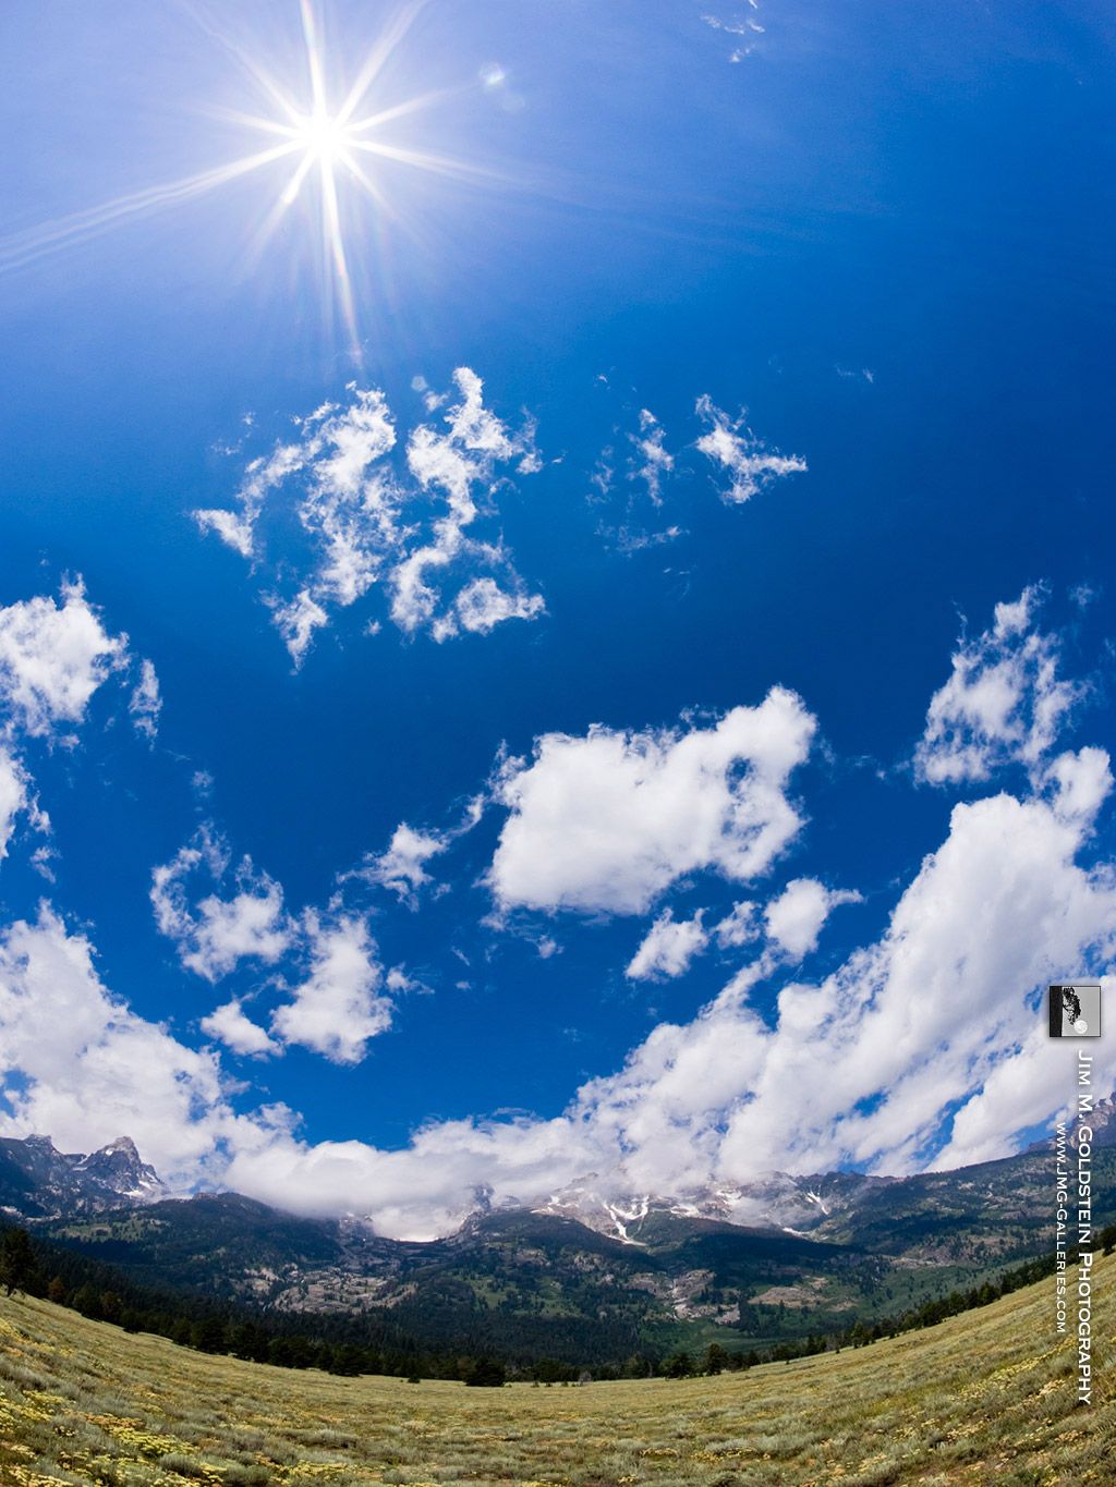
POLYGON ((510 812, 488 873, 497 903, 643 913, 686 873, 754 877, 801 827, 786 785, 814 727, 775 687, 710 727, 545 735, 496 787, 510 812))

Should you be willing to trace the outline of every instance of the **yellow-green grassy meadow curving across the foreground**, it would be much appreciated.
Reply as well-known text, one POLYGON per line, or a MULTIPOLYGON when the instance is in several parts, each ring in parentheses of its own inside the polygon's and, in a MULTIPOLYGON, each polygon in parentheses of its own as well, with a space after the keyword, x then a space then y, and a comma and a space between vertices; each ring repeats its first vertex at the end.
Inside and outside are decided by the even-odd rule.
POLYGON ((241 1364, 0 1300, 0 1483, 1112 1484, 1116 1259, 1095 1276, 1091 1408, 1052 1282, 745 1374, 504 1389, 241 1364))

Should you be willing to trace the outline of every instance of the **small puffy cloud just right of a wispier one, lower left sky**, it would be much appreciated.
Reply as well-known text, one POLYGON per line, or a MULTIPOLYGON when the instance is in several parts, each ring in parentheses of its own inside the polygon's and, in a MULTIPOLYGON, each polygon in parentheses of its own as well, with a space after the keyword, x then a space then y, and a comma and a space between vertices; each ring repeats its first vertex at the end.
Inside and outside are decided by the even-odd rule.
POLYGON ((359 915, 323 923, 308 912, 305 932, 310 974, 293 989, 293 999, 277 1008, 272 1030, 286 1044, 312 1048, 333 1063, 359 1063, 368 1041, 391 1023, 375 940, 359 915))

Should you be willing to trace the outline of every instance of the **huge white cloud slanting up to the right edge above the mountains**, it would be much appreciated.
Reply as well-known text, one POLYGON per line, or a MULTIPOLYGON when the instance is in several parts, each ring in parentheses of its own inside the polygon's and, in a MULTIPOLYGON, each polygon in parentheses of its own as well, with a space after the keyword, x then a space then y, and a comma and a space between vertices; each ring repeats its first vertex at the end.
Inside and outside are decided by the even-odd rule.
MULTIPOLYGON (((745 1182, 775 1167, 912 1170, 954 1103, 973 1099, 939 1164, 1013 1149, 1073 1084, 1071 1053, 1033 1032, 1037 993, 1116 949, 1116 874, 1073 861, 1086 833, 1036 799, 958 806, 882 938, 820 984, 786 984, 774 1028, 747 1004, 777 970, 771 958, 692 1023, 656 1028, 574 1106, 577 1124, 612 1145, 613 1191, 745 1182), (988 1121, 979 1091, 1009 1083, 995 1071, 1016 1057, 1030 1078, 1010 1081, 1010 1121, 988 1121)), ((1107 1088, 1116 1054, 1098 1053, 1107 1088)), ((601 1154, 594 1170, 606 1166, 601 1154)))

